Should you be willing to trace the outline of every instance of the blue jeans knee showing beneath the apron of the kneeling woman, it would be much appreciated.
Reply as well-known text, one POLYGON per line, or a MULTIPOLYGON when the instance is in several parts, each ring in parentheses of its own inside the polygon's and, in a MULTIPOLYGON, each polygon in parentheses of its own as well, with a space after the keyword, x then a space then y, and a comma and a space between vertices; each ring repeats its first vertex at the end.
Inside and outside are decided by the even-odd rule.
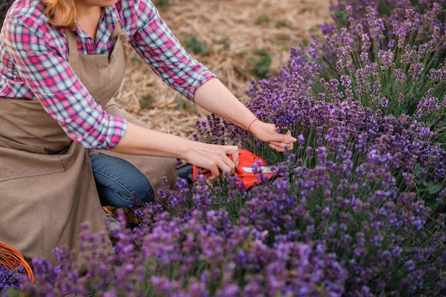
POLYGON ((132 207, 155 199, 147 177, 130 162, 97 152, 89 155, 103 206, 132 207))

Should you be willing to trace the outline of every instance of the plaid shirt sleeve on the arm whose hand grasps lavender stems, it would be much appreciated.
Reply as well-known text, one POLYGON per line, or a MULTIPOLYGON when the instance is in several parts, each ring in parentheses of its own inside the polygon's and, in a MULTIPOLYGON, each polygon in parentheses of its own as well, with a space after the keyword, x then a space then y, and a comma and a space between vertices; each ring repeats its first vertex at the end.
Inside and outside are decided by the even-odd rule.
POLYGON ((133 48, 167 85, 194 100, 199 85, 217 76, 187 53, 151 1, 135 0, 133 7, 137 15, 133 48))

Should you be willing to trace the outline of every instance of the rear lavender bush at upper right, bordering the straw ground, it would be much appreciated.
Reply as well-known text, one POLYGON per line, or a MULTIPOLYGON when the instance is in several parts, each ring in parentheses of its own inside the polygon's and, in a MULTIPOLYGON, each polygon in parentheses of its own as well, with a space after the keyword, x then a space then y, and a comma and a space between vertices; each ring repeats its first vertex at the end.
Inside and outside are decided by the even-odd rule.
MULTIPOLYGON (((358 100, 385 115, 411 115, 445 142, 445 1, 420 1, 418 6, 341 1, 333 10, 341 28, 324 26, 323 40, 313 37, 307 46, 291 48, 289 64, 279 75, 254 82, 249 92, 254 101, 271 95, 358 100)), ((265 108, 259 102, 251 108, 279 127, 291 128, 304 111, 289 107, 291 99, 275 99, 265 100, 265 108), (264 115, 271 108, 281 114, 264 115)))

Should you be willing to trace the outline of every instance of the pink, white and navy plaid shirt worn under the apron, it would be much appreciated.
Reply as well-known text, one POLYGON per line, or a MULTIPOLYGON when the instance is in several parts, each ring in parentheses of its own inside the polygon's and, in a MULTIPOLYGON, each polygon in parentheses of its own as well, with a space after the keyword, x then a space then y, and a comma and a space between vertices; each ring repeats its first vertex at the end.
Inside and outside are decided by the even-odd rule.
MULTIPOLYGON (((95 103, 68 64, 69 29, 48 24, 43 11, 41 0, 17 0, 5 17, 0 98, 40 100, 74 141, 87 148, 115 147, 127 121, 108 115, 95 103)), ((95 43, 77 26, 79 53, 109 54, 115 20, 152 70, 186 98, 193 100, 199 85, 215 77, 180 46, 150 0, 118 0, 103 8, 95 43)))

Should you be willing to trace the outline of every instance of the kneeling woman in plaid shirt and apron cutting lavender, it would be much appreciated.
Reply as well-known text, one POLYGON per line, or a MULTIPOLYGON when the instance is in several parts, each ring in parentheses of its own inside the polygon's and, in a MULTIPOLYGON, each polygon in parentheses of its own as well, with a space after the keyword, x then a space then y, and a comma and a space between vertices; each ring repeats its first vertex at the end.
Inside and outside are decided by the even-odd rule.
POLYGON ((296 141, 195 61, 149 0, 17 0, 0 35, 0 241, 26 256, 78 249, 85 223, 105 234, 100 205, 152 201, 162 177, 175 182, 176 158, 210 179, 234 173, 236 146, 150 130, 117 107, 128 46, 186 98, 273 149, 296 141))

